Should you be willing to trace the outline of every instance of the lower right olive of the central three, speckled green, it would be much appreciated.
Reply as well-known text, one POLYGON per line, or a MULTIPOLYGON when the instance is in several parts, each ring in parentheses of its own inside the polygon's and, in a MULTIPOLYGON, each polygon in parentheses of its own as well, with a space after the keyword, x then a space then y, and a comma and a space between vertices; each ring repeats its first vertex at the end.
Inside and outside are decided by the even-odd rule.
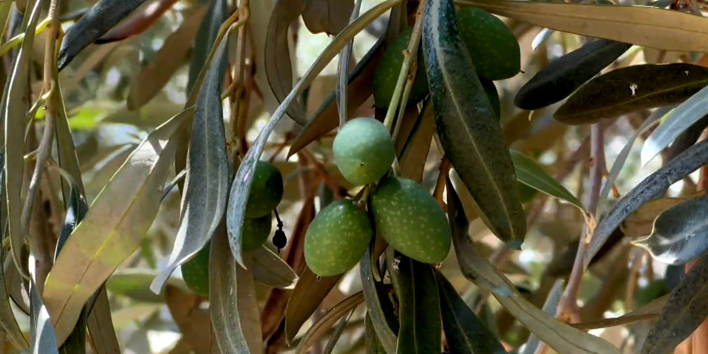
POLYGON ((410 179, 387 177, 369 198, 377 232, 398 252, 423 263, 445 260, 452 244, 438 202, 410 179))

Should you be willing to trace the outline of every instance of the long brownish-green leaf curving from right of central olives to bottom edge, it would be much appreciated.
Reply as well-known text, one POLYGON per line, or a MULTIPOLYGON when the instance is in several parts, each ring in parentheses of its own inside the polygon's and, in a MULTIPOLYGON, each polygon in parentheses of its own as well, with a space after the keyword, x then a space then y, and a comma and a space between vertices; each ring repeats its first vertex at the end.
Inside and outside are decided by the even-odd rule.
POLYGON ((604 339, 578 331, 535 307, 518 293, 508 278, 498 273, 489 261, 476 254, 467 235, 469 222, 461 210, 459 198, 449 179, 447 186, 447 211, 452 227, 452 241, 465 278, 491 291, 508 312, 558 353, 619 354, 619 350, 604 339))

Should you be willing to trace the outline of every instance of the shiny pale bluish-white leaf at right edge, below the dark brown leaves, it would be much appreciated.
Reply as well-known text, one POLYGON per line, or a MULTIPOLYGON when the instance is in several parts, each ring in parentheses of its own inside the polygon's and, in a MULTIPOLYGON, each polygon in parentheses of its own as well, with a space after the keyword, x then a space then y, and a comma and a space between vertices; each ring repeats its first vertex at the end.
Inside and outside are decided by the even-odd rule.
POLYGON ((661 124, 651 132, 641 147, 641 164, 646 165, 669 146, 678 136, 708 114, 708 87, 692 95, 661 118, 661 124))

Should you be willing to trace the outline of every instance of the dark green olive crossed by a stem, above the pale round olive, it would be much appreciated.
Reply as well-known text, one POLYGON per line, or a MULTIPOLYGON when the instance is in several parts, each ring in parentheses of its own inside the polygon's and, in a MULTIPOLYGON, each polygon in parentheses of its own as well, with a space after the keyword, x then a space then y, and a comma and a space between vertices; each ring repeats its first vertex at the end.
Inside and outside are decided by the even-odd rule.
MULTIPOLYGON (((413 28, 405 30, 386 48, 381 61, 374 73, 374 105, 386 109, 391 105, 391 99, 396 89, 399 73, 403 67, 404 50, 408 49, 413 35, 413 28)), ((426 76, 425 61, 423 60, 422 45, 418 47, 416 61, 416 78, 411 86, 407 104, 422 100, 428 94, 428 76, 426 76)))

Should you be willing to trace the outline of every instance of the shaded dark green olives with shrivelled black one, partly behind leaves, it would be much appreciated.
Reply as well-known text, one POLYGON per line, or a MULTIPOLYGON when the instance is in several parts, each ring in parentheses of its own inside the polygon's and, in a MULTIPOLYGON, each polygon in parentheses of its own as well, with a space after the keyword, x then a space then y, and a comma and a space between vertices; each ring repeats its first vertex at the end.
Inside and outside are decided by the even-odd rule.
MULTIPOLYGON (((273 212, 280 204, 283 194, 282 175, 277 167, 258 161, 253 172, 253 183, 246 201, 244 223, 241 226, 241 249, 243 252, 252 252, 263 246, 270 236, 273 227, 273 212)), ((277 230, 273 237, 276 247, 285 246, 285 240, 276 240, 282 237, 282 230, 277 230)), ((200 249, 195 256, 181 266, 182 277, 188 288, 194 293, 209 296, 209 248, 210 243, 200 249)))

